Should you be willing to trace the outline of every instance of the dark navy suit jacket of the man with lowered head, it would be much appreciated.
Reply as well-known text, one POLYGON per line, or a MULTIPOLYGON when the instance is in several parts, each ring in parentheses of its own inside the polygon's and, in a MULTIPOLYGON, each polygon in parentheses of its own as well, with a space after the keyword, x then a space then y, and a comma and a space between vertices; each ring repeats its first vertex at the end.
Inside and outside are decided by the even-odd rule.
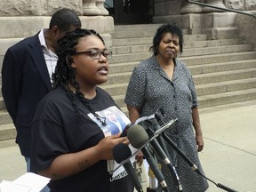
POLYGON ((30 122, 37 103, 50 90, 51 79, 38 33, 10 47, 4 55, 2 93, 22 156, 30 156, 30 122))

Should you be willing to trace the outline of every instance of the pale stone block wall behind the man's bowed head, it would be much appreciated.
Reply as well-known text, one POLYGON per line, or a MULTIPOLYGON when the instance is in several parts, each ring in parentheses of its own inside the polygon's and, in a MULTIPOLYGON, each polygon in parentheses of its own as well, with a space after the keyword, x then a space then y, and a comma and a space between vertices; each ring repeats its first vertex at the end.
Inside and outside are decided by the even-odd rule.
MULTIPOLYGON (((91 2, 91 0, 87 1, 91 2)), ((102 2, 102 0, 98 1, 102 2)), ((8 47, 24 37, 35 35, 42 28, 48 28, 53 12, 64 7, 74 10, 79 15, 82 28, 96 30, 104 38, 106 46, 111 46, 110 34, 114 31, 113 18, 99 14, 83 16, 83 2, 86 0, 1 0, 0 68, 8 47)))

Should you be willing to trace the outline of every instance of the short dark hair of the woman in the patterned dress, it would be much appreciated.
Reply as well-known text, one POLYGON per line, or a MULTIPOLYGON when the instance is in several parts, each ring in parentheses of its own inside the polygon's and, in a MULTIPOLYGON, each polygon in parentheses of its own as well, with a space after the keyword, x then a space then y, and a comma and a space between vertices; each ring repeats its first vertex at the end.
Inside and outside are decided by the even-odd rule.
POLYGON ((159 53, 159 44, 164 36, 165 33, 171 33, 172 35, 179 36, 179 45, 180 45, 180 52, 183 51, 183 34, 182 30, 178 28, 175 23, 167 23, 163 24, 156 30, 156 35, 153 38, 153 45, 150 47, 149 51, 153 51, 154 55, 159 53))

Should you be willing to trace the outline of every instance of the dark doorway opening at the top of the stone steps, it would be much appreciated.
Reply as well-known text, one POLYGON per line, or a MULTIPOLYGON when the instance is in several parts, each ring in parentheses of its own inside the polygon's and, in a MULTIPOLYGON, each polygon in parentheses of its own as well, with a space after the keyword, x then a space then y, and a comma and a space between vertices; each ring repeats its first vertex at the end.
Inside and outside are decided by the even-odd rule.
POLYGON ((148 0, 106 0, 105 8, 118 24, 143 24, 151 21, 148 0))

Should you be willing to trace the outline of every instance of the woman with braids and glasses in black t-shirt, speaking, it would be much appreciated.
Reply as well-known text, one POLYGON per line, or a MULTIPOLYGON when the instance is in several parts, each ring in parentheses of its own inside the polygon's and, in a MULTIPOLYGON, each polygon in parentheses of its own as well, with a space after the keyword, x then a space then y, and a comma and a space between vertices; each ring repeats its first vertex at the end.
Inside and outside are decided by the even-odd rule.
POLYGON ((111 135, 104 111, 130 123, 97 86, 108 80, 111 56, 94 30, 76 29, 59 41, 53 90, 38 104, 32 122, 31 171, 51 178, 51 192, 133 191, 126 172, 109 174, 114 146, 127 139, 119 137, 120 130, 111 135))

